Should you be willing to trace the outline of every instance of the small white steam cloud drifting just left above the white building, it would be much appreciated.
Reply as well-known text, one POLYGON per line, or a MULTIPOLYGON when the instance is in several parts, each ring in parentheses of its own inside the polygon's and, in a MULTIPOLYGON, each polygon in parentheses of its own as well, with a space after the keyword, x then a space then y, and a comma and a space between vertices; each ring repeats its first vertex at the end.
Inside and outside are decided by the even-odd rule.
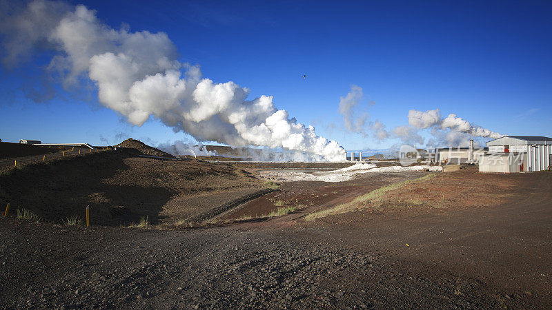
POLYGON ((457 117, 456 114, 449 114, 446 118, 442 118, 439 109, 428 110, 426 112, 410 110, 408 111, 408 123, 419 129, 430 127, 438 130, 448 129, 454 132, 486 138, 500 138, 502 136, 502 134, 497 132, 491 132, 491 130, 473 125, 461 117, 457 117))

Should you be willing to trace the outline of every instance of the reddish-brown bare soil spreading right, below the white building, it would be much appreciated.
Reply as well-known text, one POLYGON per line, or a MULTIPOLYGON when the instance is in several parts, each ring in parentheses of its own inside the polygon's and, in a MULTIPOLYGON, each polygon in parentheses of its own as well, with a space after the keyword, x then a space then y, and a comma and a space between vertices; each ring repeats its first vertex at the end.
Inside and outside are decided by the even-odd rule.
POLYGON ((246 225, 324 231, 325 240, 380 249, 393 265, 424 277, 453 274, 497 290, 501 302, 549 307, 551 182, 551 172, 480 174, 472 167, 395 189, 377 207, 306 222, 307 207, 246 225), (405 203, 411 199, 424 204, 405 203))

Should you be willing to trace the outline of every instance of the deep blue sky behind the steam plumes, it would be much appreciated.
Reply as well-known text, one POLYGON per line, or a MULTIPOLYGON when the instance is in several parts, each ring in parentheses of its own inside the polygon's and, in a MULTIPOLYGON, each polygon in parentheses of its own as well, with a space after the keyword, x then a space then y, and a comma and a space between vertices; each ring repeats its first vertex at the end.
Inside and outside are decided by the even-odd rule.
MULTIPOLYGON (((363 88, 362 103, 375 102, 371 120, 388 128, 407 124, 408 110, 438 108, 501 134, 552 136, 550 1, 172 2, 84 4, 112 28, 166 32, 180 61, 217 83, 248 87, 250 99, 274 96, 346 149, 397 142, 344 128, 337 107, 351 85, 363 88)), ((63 89, 44 73, 51 56, 0 69, 2 141, 190 138, 152 119, 129 125, 99 105, 90 84, 63 89), (35 103, 33 94, 47 100, 35 103)))

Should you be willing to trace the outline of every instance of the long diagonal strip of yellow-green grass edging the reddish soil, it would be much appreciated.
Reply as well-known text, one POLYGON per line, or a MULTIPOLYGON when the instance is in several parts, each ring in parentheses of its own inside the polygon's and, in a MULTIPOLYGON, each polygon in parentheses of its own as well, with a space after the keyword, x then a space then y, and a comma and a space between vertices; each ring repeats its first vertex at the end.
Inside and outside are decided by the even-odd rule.
MULTIPOLYGON (((344 203, 342 205, 337 205, 335 207, 330 207, 328 209, 324 209, 321 211, 308 214, 307 216, 305 216, 305 220, 315 220, 317 218, 324 218, 329 215, 342 214, 342 213, 354 211, 357 209, 362 209, 364 206, 366 206, 366 203, 380 202, 384 197, 384 195, 386 195, 388 192, 391 192, 393 189, 404 187, 405 185, 408 185, 413 182, 420 182, 423 180, 427 180, 429 178, 435 177, 436 175, 437 174, 428 174, 426 176, 422 176, 421 178, 404 180, 399 183, 393 183, 384 187, 380 187, 378 189, 374 189, 372 192, 369 192, 368 194, 358 196, 357 198, 355 198, 355 200, 351 201, 350 203, 344 203)), ((422 204, 422 202, 419 200, 412 200, 412 203, 413 205, 422 204)))

